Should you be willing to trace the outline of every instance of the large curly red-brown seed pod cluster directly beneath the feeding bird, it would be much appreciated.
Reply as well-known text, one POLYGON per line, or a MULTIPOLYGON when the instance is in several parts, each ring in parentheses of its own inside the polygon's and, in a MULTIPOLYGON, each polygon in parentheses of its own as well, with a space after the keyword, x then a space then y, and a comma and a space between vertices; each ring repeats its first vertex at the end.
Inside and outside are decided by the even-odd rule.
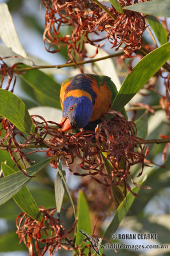
MULTIPOLYGON (((41 118, 42 122, 37 122, 32 116, 36 129, 29 138, 18 131, 15 125, 4 119, 2 124, 5 136, 0 140, 0 147, 1 145, 5 147, 7 143, 11 159, 20 170, 22 168, 15 158, 16 152, 23 163, 30 161, 27 158, 28 154, 46 152, 47 156, 56 156, 51 163, 53 168, 57 168, 58 157, 63 156, 67 168, 74 175, 82 177, 91 175, 93 179, 104 186, 118 185, 123 180, 127 184, 127 177, 131 177, 130 168, 132 165, 141 163, 142 170, 139 175, 143 172, 148 150, 145 152, 145 142, 136 136, 134 122, 127 121, 121 113, 116 111, 110 111, 106 115, 95 132, 85 131, 78 134, 64 134, 55 128, 48 127, 48 123, 51 124, 52 122, 46 122, 41 116, 38 117, 41 118), (106 115, 110 115, 110 120, 106 118, 106 115), (52 136, 52 139, 46 140, 47 135, 52 136), (21 137, 25 140, 23 144, 18 142, 21 141, 21 137), (32 148, 36 149, 25 152, 25 148, 29 146, 30 149, 31 145, 32 148), (76 157, 78 157, 81 167, 79 172, 74 170, 74 165, 72 165, 76 157), (105 161, 110 164, 110 173, 106 172, 104 168, 105 161)), ((53 124, 60 126, 56 123, 53 124)), ((25 171, 22 170, 22 172, 27 175, 25 171)), ((131 190, 129 184, 127 184, 127 188, 131 190)))

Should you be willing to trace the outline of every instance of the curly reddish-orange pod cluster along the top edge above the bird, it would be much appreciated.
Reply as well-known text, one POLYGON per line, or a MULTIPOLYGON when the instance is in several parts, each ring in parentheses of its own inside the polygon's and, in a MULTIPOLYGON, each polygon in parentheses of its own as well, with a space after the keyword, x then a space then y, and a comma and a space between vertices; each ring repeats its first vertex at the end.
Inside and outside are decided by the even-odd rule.
MULTIPOLYGON (((143 1, 143 0, 142 0, 143 1)), ((47 51, 58 52, 60 47, 67 46, 71 60, 73 54, 87 57, 85 44, 98 48, 103 40, 109 40, 111 48, 123 49, 124 57, 131 57, 132 52, 141 48, 143 31, 146 29, 144 17, 137 12, 124 10, 119 13, 115 8, 108 8, 109 15, 91 0, 41 0, 45 4, 44 43, 50 44, 47 51), (111 17, 112 16, 112 17, 111 17), (113 19, 115 17, 115 19, 113 19), (63 32, 64 26, 71 27, 71 35, 63 32), (63 35, 64 34, 64 35, 63 35), (125 46, 122 46, 125 44, 125 46), (51 49, 55 45, 57 49, 51 49)), ((138 3, 138 0, 118 0, 122 7, 138 3)))

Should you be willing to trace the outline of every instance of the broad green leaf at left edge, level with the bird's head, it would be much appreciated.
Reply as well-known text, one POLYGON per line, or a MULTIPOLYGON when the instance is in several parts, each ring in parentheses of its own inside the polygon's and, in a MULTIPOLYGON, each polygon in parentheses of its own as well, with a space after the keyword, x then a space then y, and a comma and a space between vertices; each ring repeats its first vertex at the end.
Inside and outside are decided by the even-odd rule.
POLYGON ((24 102, 7 90, 0 89, 0 116, 10 120, 20 131, 34 133, 34 124, 24 102))

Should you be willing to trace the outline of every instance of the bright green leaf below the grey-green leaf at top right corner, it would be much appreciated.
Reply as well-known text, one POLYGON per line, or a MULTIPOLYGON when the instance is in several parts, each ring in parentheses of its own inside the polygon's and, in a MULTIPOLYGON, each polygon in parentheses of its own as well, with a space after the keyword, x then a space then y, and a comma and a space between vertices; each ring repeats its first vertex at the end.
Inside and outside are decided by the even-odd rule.
POLYGON ((162 23, 160 23, 160 21, 152 15, 148 15, 147 20, 155 35, 157 36, 160 45, 166 44, 168 32, 166 31, 162 23))

